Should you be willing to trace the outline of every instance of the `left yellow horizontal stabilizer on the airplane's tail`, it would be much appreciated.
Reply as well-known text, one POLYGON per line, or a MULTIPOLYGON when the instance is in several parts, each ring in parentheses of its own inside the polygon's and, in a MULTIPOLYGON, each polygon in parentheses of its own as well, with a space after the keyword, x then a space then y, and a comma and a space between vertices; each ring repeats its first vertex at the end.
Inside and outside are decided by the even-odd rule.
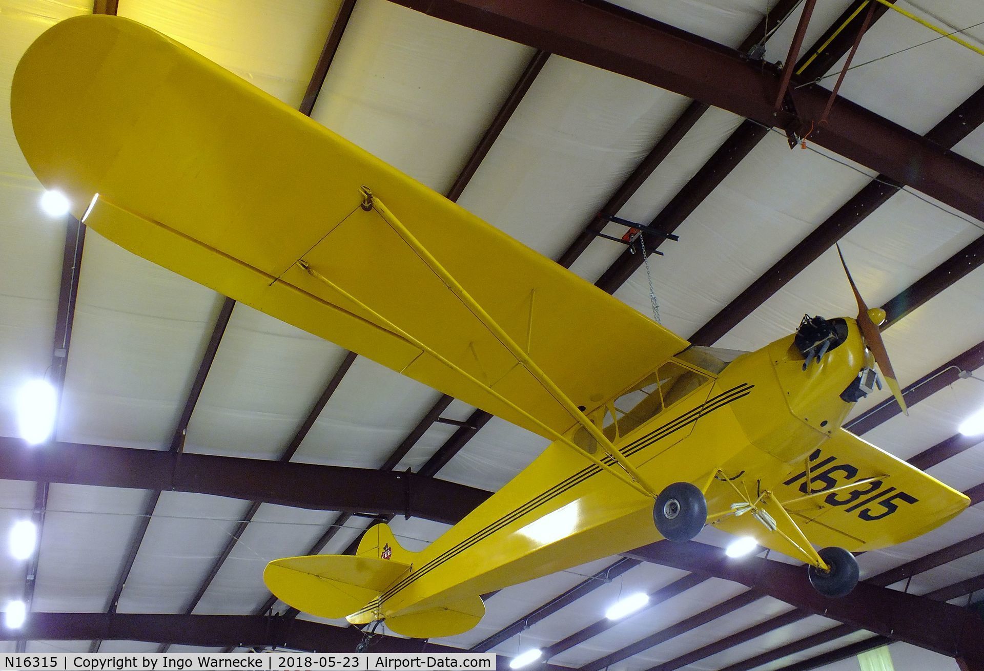
POLYGON ((298 610, 343 618, 378 597, 409 568, 350 555, 287 557, 268 564, 263 580, 277 598, 298 610))

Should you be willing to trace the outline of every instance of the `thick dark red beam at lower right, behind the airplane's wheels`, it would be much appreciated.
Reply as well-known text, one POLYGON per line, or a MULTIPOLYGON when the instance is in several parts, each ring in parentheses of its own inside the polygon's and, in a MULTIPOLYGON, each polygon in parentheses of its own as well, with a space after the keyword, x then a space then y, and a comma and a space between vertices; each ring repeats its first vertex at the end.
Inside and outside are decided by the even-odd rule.
POLYGON ((891 636, 943 654, 984 658, 984 621, 958 606, 861 582, 850 594, 829 599, 804 580, 802 566, 759 557, 729 561, 719 548, 690 541, 654 543, 627 556, 740 582, 801 610, 891 636))

